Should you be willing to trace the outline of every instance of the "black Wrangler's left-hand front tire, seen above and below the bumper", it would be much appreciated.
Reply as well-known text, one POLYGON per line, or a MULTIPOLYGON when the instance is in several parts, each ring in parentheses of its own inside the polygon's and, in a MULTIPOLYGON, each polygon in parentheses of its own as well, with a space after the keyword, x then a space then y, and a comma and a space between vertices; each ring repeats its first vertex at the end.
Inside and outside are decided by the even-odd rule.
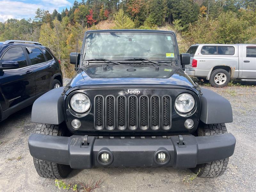
MULTIPOLYGON (((64 136, 64 131, 58 125, 37 124, 36 133, 45 135, 64 136)), ((69 165, 63 165, 44 161, 33 157, 36 172, 44 178, 60 179, 65 178, 71 172, 69 165)))

